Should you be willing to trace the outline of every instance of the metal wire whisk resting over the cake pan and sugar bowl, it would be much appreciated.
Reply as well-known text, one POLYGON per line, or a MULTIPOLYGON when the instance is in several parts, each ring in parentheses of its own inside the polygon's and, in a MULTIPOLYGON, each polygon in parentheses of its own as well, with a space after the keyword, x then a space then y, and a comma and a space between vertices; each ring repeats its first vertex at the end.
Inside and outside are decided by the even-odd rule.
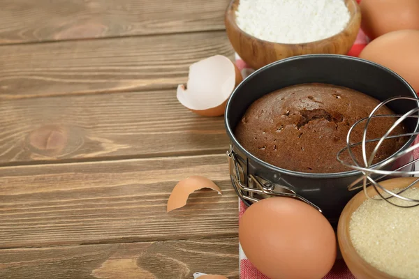
MULTIPOLYGON (((406 156, 406 154, 413 152, 413 150, 415 150, 416 148, 419 147, 419 143, 417 144, 412 144, 411 146, 409 146, 408 148, 404 149, 403 151, 397 151, 395 154, 393 154, 392 156, 388 157, 385 160, 382 160, 380 163, 377 163, 375 165, 372 164, 374 157, 376 156, 376 153, 378 151, 378 149, 380 149, 381 145, 383 144, 383 142, 387 139, 393 139, 393 138, 397 138, 397 137, 411 137, 411 136, 416 136, 419 135, 419 132, 414 132, 414 133, 404 133, 401 135, 390 135, 392 133, 392 131, 399 126, 403 121, 405 121, 406 119, 417 119, 416 121, 419 121, 419 99, 418 98, 413 98, 413 97, 409 97, 409 96, 397 96, 397 97, 393 97, 390 98, 388 100, 385 100, 383 102, 381 102, 379 105, 377 105, 374 110, 371 112, 371 114, 369 114, 368 117, 364 118, 364 119, 360 119, 359 121, 355 122, 353 124, 353 126, 351 126, 351 128, 348 131, 348 135, 346 136, 346 147, 344 149, 341 149, 341 151, 339 151, 339 153, 337 153, 337 160, 339 160, 339 162, 343 165, 345 165, 346 167, 350 167, 351 169, 355 169, 358 170, 362 173, 362 176, 360 176, 359 179, 356 179, 355 181, 353 181, 353 183, 351 183, 350 186, 348 186, 348 190, 355 190, 358 188, 364 188, 364 193, 365 195, 367 195, 367 197, 369 199, 383 199, 386 202, 394 205, 394 206, 398 206, 398 207, 405 207, 405 208, 409 208, 409 207, 414 207, 414 206, 419 206, 419 199, 411 199, 408 197, 403 197, 401 194, 404 193, 404 191, 406 191, 409 188, 412 188, 413 186, 416 185, 416 183, 419 182, 419 177, 418 179, 416 179, 415 181, 413 181, 413 183, 411 183, 409 186, 407 186, 406 188, 399 190, 397 193, 392 192, 386 188, 384 188, 383 186, 380 185, 380 183, 378 181, 381 181, 382 179, 384 179, 386 176, 417 176, 419 175, 419 170, 415 170, 415 163, 419 161, 419 158, 414 158, 413 156, 411 156, 411 158, 413 158, 412 160, 409 160, 407 163, 404 163, 402 166, 397 167, 396 169, 392 169, 391 164, 395 163, 396 160, 399 160, 400 158, 402 158, 403 156, 406 156), (384 105, 387 105, 388 103, 391 102, 395 102, 397 100, 406 100, 409 102, 416 102, 416 104, 414 105, 415 108, 410 110, 409 112, 406 112, 406 114, 376 114, 376 112, 383 107, 384 105), (388 131, 385 133, 385 135, 383 135, 383 137, 379 138, 379 139, 374 139, 374 140, 367 140, 367 130, 368 130, 368 126, 369 123, 372 119, 377 118, 377 117, 392 117, 395 118, 397 117, 397 121, 395 121, 395 123, 391 126, 390 129, 388 129, 388 131), (363 134, 362 134, 362 142, 357 142, 355 144, 351 144, 351 133, 353 132, 354 128, 358 125, 362 125, 362 123, 365 124, 364 130, 363 130, 363 134), (378 142, 374 148, 374 150, 372 151, 371 155, 369 156, 369 158, 367 158, 367 143, 368 142, 378 142), (362 146, 362 162, 358 162, 358 160, 356 160, 354 153, 353 153, 353 147, 355 146, 362 146), (344 153, 344 151, 348 150, 348 153, 351 157, 352 162, 347 162, 345 160, 343 160, 341 158, 342 153, 344 153), (406 171, 406 168, 410 168, 410 170, 406 171), (360 185, 360 181, 363 181, 362 184, 360 185), (374 198, 374 197, 370 197, 367 193, 367 187, 368 186, 372 186, 374 187, 376 193, 379 195, 378 198, 374 198), (382 192, 380 192, 378 189, 381 189, 382 192), (388 195, 385 197, 383 195, 383 193, 387 193, 388 195), (402 199, 404 201, 409 202, 409 205, 400 205, 400 204, 395 204, 395 202, 392 202, 391 199, 393 197, 396 197, 398 199, 402 199)), ((417 122, 416 122, 417 123, 417 122)), ((416 126, 416 124, 415 124, 416 126)), ((419 186, 419 183, 418 183, 419 186)))

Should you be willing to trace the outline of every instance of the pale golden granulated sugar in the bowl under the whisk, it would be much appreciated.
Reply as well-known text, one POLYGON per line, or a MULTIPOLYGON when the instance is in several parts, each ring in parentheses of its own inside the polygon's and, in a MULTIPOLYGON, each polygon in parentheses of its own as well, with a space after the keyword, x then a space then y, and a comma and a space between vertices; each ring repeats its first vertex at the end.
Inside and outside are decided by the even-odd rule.
MULTIPOLYGON (((419 188, 401 195, 419 199, 419 188)), ((394 197, 391 200, 412 205, 394 197)), ((358 254, 376 269, 397 278, 419 278, 419 206, 404 209, 367 199, 353 213, 349 234, 358 254)))

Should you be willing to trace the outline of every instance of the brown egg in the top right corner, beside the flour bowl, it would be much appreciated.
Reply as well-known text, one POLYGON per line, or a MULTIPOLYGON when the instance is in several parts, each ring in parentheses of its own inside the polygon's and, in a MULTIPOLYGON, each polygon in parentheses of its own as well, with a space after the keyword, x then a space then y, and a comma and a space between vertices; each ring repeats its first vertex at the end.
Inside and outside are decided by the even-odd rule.
POLYGON ((419 29, 418 0, 362 0, 362 30, 375 38, 396 30, 419 29))

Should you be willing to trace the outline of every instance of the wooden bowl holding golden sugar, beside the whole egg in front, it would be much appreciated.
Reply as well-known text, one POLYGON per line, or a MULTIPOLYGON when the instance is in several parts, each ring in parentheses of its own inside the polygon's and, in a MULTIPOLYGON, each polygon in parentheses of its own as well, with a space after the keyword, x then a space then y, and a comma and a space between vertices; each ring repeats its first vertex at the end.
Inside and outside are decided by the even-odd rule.
MULTIPOLYGON (((403 177, 397 179, 388 179, 386 181, 380 182, 380 185, 388 190, 393 190, 395 188, 405 188, 418 179, 417 177, 403 177)), ((377 195, 374 188, 367 188, 367 193, 370 197, 377 195)), ((351 271, 353 276, 357 279, 399 279, 395 276, 390 276, 388 273, 379 271, 371 264, 365 262, 358 252, 356 252, 349 236, 349 222, 351 221, 352 213, 355 212, 358 207, 365 202, 367 197, 362 190, 360 193, 355 195, 351 201, 346 204, 344 210, 341 213, 339 218, 339 223, 337 225, 337 239, 339 242, 339 248, 341 255, 348 266, 348 269, 351 271)), ((384 201, 383 201, 384 202, 384 201)))

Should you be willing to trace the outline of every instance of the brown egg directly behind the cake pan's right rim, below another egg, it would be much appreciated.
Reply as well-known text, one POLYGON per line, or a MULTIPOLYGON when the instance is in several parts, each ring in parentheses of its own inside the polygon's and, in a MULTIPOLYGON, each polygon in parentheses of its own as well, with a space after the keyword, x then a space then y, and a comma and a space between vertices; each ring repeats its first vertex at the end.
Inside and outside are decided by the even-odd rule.
POLYGON ((419 92, 419 30, 386 33, 369 43, 360 58, 394 70, 419 92))

